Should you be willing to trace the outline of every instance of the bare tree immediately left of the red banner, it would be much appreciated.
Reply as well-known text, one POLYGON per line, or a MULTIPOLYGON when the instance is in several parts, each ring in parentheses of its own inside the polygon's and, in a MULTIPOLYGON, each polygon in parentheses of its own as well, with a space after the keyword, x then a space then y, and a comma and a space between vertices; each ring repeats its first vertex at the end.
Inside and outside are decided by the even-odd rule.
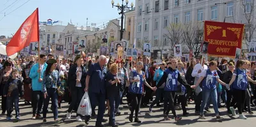
POLYGON ((200 54, 201 44, 204 40, 204 31, 200 22, 191 22, 184 24, 182 33, 182 41, 189 50, 193 50, 195 57, 200 54))

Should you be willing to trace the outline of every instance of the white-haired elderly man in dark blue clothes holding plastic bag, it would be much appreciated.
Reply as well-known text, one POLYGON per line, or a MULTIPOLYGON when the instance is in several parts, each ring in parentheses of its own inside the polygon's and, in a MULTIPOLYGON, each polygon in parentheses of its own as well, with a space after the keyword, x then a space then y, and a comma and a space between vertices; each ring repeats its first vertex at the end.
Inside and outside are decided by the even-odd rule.
MULTIPOLYGON (((105 77, 107 75, 107 72, 104 65, 106 64, 106 61, 106 56, 102 55, 99 57, 97 63, 94 63, 90 66, 86 76, 86 87, 84 89, 84 91, 89 92, 90 102, 93 111, 95 110, 98 101, 99 110, 97 114, 97 121, 95 124, 95 126, 97 127, 103 126, 102 121, 105 112, 105 77)), ((86 117, 85 123, 88 124, 88 117, 86 117)))

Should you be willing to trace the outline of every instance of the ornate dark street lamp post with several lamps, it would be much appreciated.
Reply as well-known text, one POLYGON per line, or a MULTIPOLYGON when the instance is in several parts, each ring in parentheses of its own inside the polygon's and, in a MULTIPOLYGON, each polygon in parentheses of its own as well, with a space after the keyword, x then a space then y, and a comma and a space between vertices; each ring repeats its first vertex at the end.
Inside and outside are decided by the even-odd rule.
POLYGON ((124 10, 125 10, 125 9, 129 9, 129 8, 132 9, 132 7, 133 7, 133 5, 134 5, 133 3, 131 3, 131 7, 129 7, 129 6, 128 6, 128 3, 129 3, 128 0, 125 1, 125 4, 124 4, 124 0, 122 0, 122 5, 120 6, 119 3, 117 3, 116 5, 114 5, 115 2, 114 2, 113 0, 111 1, 112 8, 114 8, 114 6, 115 6, 115 7, 117 8, 117 10, 120 10, 120 12, 118 13, 119 15, 121 15, 120 40, 122 40, 123 34, 124 34, 124 31, 123 31, 123 29, 124 29, 124 10))

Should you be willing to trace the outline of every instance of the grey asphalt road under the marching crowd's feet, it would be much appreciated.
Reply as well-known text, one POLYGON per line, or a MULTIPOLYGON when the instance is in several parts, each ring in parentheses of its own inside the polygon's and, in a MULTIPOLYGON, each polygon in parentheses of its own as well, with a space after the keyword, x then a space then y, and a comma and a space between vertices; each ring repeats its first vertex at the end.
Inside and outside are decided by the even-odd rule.
MULTIPOLYGON (((68 108, 68 103, 62 103, 63 108, 59 109, 59 119, 63 121, 63 123, 60 123, 58 125, 54 125, 53 123, 53 114, 51 110, 47 114, 47 124, 42 124, 42 119, 35 119, 32 120, 32 114, 31 114, 31 107, 28 105, 24 105, 23 102, 20 102, 20 119, 18 123, 13 123, 14 120, 6 121, 5 116, 0 116, 0 127, 6 127, 6 126, 20 126, 20 127, 36 127, 36 126, 94 126, 96 119, 92 119, 90 124, 86 125, 83 122, 77 122, 76 121, 76 114, 72 114, 72 119, 65 119, 66 117, 66 111, 68 108)), ((212 112, 209 112, 205 114, 206 119, 198 119, 198 116, 194 114, 195 105, 189 104, 188 105, 188 117, 182 117, 182 120, 179 121, 179 123, 175 123, 174 119, 171 119, 170 121, 164 121, 163 120, 163 107, 154 107, 153 112, 148 112, 147 108, 141 108, 141 114, 140 114, 140 120, 143 121, 142 123, 130 123, 129 122, 129 110, 127 109, 127 105, 121 105, 121 116, 116 117, 116 122, 120 124, 120 126, 145 126, 145 127, 155 127, 155 126, 186 126, 186 127, 254 127, 256 126, 256 115, 253 114, 245 114, 248 119, 236 119, 236 117, 228 116, 226 113, 225 108, 220 108, 221 116, 223 117, 223 120, 221 122, 217 122, 214 117, 214 111, 211 108, 212 112)), ((253 108, 255 110, 255 108, 253 108)), ((107 112, 106 112, 107 113, 107 112)), ((255 111, 256 113, 256 111, 255 111)), ((182 115, 182 110, 177 110, 177 114, 182 115)), ((13 112, 13 115, 15 115, 15 112, 13 112)), ((170 115, 172 116, 172 115, 170 115)), ((237 116, 238 117, 238 116, 237 116)), ((14 118, 14 117, 13 117, 14 118)), ((108 119, 108 116, 104 116, 104 119, 108 119)), ((107 123, 105 126, 108 126, 107 123)))

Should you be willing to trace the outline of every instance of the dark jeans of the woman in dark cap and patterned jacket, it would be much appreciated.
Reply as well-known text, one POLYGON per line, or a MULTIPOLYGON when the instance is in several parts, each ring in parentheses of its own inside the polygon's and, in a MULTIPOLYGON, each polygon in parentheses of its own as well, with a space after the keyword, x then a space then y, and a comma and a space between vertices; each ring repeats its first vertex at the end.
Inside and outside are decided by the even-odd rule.
POLYGON ((58 119, 58 93, 57 93, 57 89, 47 89, 47 96, 46 98, 44 98, 44 107, 43 107, 43 118, 46 118, 46 114, 47 114, 47 108, 49 105, 49 101, 51 98, 52 101, 52 112, 53 112, 53 118, 54 120, 58 119))

